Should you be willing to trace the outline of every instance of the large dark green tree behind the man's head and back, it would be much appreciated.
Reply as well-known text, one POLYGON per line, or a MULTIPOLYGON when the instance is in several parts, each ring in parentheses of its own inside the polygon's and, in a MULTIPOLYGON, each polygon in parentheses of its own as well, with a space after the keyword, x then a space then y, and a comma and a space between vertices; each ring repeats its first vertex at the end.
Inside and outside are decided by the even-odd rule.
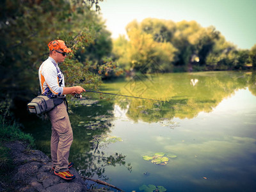
MULTIPOLYGON (((49 55, 48 42, 54 39, 64 40, 73 50, 61 63, 65 82, 97 86, 100 77, 81 60, 81 50, 93 45, 111 47, 98 10, 98 0, 1 1, 0 100, 8 97, 27 102, 37 93, 37 70, 49 55)), ((108 54, 102 49, 89 59, 108 54)))

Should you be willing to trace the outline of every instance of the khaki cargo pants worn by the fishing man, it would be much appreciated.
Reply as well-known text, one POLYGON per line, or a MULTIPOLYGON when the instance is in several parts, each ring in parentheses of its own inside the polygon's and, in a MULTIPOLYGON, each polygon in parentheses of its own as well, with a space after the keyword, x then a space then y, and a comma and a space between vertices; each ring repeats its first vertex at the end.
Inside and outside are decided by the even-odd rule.
POLYGON ((65 102, 62 102, 47 114, 52 123, 52 163, 56 172, 66 172, 68 171, 68 156, 73 141, 73 131, 65 102))

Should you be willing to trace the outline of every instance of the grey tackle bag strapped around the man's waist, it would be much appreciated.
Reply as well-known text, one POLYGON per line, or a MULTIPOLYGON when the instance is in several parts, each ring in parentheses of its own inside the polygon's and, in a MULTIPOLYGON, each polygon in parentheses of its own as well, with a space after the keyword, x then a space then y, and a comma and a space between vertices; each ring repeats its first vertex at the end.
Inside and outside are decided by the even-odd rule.
POLYGON ((28 104, 28 110, 30 113, 41 114, 51 111, 55 106, 58 106, 63 102, 65 97, 52 98, 50 99, 46 95, 38 95, 36 98, 31 100, 28 104))

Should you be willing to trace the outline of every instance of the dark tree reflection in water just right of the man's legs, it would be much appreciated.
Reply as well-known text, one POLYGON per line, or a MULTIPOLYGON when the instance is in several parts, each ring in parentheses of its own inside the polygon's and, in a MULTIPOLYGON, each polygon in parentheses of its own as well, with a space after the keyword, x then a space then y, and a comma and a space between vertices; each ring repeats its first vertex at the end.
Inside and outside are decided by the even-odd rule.
POLYGON ((130 163, 125 162, 125 155, 113 152, 105 154, 104 147, 115 141, 106 141, 113 121, 113 103, 102 101, 99 105, 90 107, 80 106, 70 115, 74 129, 74 138, 70 157, 77 163, 77 170, 86 177, 108 180, 106 166, 125 166, 129 172, 132 170, 130 163), (74 150, 72 150, 74 149, 74 150))

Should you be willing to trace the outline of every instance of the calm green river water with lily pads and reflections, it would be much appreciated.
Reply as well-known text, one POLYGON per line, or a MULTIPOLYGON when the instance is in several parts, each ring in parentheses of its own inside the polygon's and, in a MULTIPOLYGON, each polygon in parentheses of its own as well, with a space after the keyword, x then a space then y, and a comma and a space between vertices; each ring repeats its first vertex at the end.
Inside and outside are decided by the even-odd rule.
MULTIPOLYGON (((100 91, 155 100, 86 93, 99 102, 70 114, 81 175, 124 191, 255 190, 255 73, 152 74, 100 91)), ((49 121, 25 127, 49 154, 49 121)))

